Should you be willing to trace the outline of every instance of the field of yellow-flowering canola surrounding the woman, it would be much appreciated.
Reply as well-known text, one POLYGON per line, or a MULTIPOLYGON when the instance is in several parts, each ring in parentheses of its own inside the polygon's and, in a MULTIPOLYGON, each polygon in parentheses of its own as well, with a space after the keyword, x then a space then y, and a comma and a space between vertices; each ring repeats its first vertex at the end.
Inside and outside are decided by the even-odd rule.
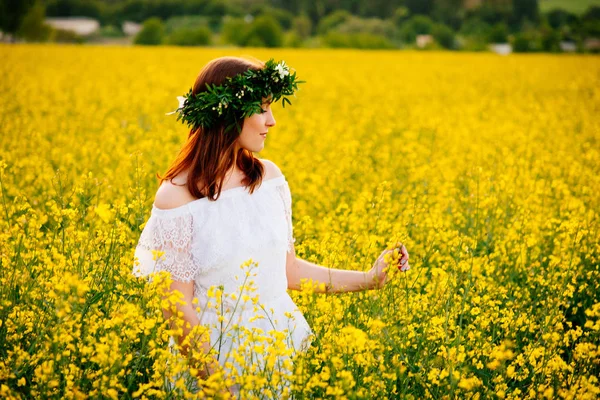
POLYGON ((187 138, 165 113, 244 54, 307 82, 258 155, 289 182, 297 256, 367 270, 402 237, 412 268, 290 292, 318 339, 293 375, 249 366, 243 398, 600 396, 600 58, 2 45, 1 397, 188 397, 164 385, 186 368, 168 277, 134 278, 133 252, 187 138))

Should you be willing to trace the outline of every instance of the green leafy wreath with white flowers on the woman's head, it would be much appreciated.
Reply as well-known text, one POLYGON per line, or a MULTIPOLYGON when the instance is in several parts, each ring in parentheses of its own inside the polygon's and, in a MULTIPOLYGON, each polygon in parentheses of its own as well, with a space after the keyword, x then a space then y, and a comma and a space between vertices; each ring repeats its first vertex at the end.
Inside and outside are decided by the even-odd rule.
POLYGON ((206 84, 206 91, 197 95, 192 89, 185 96, 177 96, 179 107, 166 115, 178 113, 177 121, 182 120, 194 129, 210 128, 219 122, 225 122, 226 130, 237 128, 241 131, 238 121, 252 114, 262 113, 262 99, 271 97, 271 102, 283 98, 282 104, 292 104, 285 96, 296 95, 298 84, 305 81, 296 80, 296 72, 290 74, 285 61, 275 63, 271 58, 264 68, 247 70, 234 77, 228 77, 226 82, 216 86, 206 84))

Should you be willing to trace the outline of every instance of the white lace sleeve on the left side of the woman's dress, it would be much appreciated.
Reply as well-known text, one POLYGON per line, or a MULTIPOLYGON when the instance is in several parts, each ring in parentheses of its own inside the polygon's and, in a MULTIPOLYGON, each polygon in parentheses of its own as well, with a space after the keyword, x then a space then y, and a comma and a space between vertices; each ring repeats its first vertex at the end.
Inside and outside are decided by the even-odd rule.
POLYGON ((193 281, 200 270, 191 252, 193 228, 192 214, 185 208, 153 210, 136 246, 133 274, 168 271, 173 280, 193 281))

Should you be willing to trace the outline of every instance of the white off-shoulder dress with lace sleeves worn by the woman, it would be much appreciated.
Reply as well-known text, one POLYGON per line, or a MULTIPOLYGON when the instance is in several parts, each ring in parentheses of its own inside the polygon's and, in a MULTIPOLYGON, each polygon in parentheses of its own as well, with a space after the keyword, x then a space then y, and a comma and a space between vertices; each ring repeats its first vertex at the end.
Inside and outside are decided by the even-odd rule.
MULTIPOLYGON (((139 265, 134 262, 133 274, 165 270, 174 280, 193 281, 198 299, 194 307, 201 310, 200 322, 211 327, 211 345, 220 349, 219 363, 227 368, 226 361, 231 361, 241 373, 243 366, 228 356, 239 344, 235 334, 227 331, 235 324, 264 334, 273 329, 285 332, 292 354, 310 345, 312 330, 286 291, 286 255, 294 241, 292 198, 281 175, 263 180, 252 194, 246 187, 235 187, 223 190, 217 201, 205 197, 167 210, 153 205, 136 246, 139 265), (164 253, 153 260, 153 250, 164 253), (248 279, 254 280, 256 291, 244 293, 258 297, 257 304, 263 306, 260 318, 252 301, 241 300, 248 268, 240 266, 249 260, 256 275, 248 279), (208 295, 211 287, 219 285, 224 293, 222 308, 215 307, 215 298, 208 295), (237 294, 236 299, 227 297, 231 293, 237 294), (225 316, 223 322, 219 315, 225 316)), ((261 361, 262 354, 253 356, 252 362, 261 361)))

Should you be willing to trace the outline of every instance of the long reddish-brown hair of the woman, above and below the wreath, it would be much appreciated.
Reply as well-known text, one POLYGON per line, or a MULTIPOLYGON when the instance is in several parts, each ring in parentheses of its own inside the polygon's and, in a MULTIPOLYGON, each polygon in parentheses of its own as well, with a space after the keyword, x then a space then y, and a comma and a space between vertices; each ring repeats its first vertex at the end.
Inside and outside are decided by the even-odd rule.
MULTIPOLYGON (((257 71, 262 68, 264 68, 262 61, 250 57, 216 58, 202 68, 192 92, 198 94, 206 91, 207 83, 221 85, 227 77, 233 77, 249 69, 257 71)), ((240 127, 244 126, 243 120, 239 120, 238 123, 240 127)), ((264 167, 249 150, 240 148, 237 154, 234 154, 235 143, 239 135, 235 127, 226 131, 224 123, 217 124, 210 129, 192 128, 185 145, 169 166, 165 176, 161 177, 158 173, 156 174, 160 180, 159 186, 165 180, 173 183, 172 179, 175 176, 189 169, 185 185, 192 196, 195 198, 208 197, 209 200, 215 201, 221 195, 225 174, 233 166, 235 159, 237 167, 245 175, 242 184, 248 186, 250 193, 253 193, 262 182, 264 167), (198 187, 199 184, 202 185, 202 190, 198 187)))

